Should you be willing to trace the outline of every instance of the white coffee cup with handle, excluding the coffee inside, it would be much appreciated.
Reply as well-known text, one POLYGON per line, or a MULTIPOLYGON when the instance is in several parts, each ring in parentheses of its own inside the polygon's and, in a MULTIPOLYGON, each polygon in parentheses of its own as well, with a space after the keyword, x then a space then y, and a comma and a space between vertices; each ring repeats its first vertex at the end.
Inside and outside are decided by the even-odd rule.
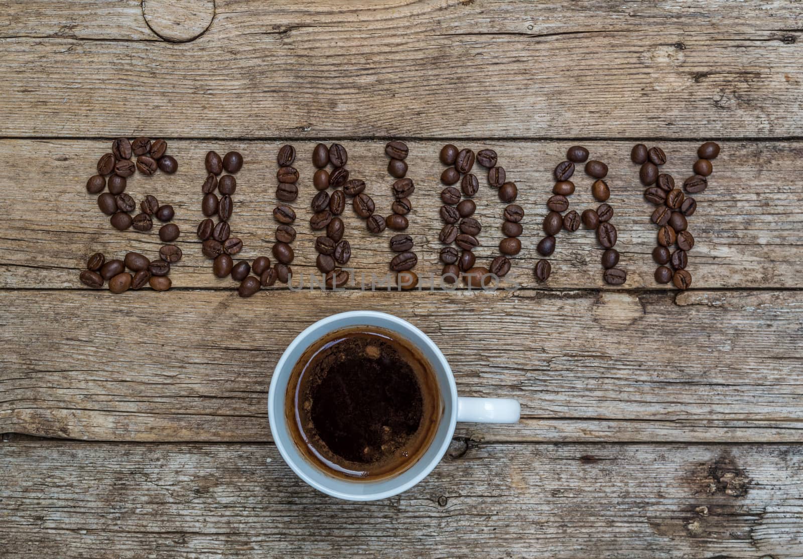
POLYGON ((516 423, 519 421, 520 406, 519 402, 511 398, 459 398, 454 374, 446 358, 425 333, 406 320, 384 312, 352 311, 318 320, 287 346, 273 372, 271 390, 267 397, 267 412, 271 421, 271 434, 279 453, 301 479, 327 495, 345 500, 367 501, 397 495, 424 479, 446 454, 457 422, 516 423), (432 365, 443 400, 443 414, 438 430, 422 457, 405 471, 376 481, 335 477, 310 463, 293 442, 284 410, 287 382, 304 350, 328 333, 362 325, 385 328, 413 344, 432 365))

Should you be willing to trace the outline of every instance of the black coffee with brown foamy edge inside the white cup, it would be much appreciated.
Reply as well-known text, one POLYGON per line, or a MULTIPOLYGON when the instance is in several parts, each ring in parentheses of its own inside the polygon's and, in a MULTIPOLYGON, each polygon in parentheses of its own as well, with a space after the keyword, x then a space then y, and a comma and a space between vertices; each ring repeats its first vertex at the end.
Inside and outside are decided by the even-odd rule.
POLYGON ((344 328, 316 341, 285 396, 296 447, 331 475, 375 480, 412 466, 434 439, 443 404, 434 370, 383 328, 344 328))

